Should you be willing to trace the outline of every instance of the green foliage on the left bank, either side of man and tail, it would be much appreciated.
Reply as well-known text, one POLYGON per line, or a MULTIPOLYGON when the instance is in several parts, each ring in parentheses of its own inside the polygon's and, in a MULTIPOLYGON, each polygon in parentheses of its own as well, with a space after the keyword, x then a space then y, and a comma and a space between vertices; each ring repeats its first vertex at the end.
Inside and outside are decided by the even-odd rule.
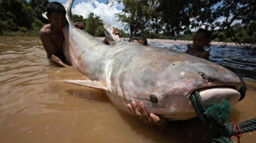
MULTIPOLYGON (((40 28, 49 21, 42 17, 48 0, 0 0, 0 35, 38 36, 40 28)), ((81 15, 72 15, 73 21, 85 24, 85 30, 94 36, 104 37, 101 19, 90 13, 87 19, 81 15)), ((124 31, 120 31, 124 34, 124 31)))

